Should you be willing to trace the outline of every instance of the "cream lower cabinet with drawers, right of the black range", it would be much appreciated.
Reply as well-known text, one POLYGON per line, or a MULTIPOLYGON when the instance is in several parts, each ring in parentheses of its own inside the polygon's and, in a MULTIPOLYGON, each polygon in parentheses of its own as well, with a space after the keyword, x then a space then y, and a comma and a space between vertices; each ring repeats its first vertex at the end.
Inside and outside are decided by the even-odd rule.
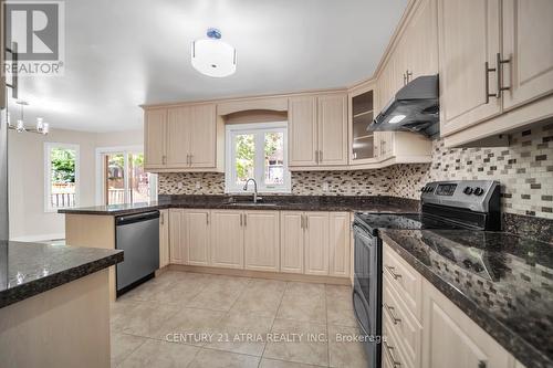
POLYGON ((383 263, 384 367, 522 367, 386 243, 383 263))

